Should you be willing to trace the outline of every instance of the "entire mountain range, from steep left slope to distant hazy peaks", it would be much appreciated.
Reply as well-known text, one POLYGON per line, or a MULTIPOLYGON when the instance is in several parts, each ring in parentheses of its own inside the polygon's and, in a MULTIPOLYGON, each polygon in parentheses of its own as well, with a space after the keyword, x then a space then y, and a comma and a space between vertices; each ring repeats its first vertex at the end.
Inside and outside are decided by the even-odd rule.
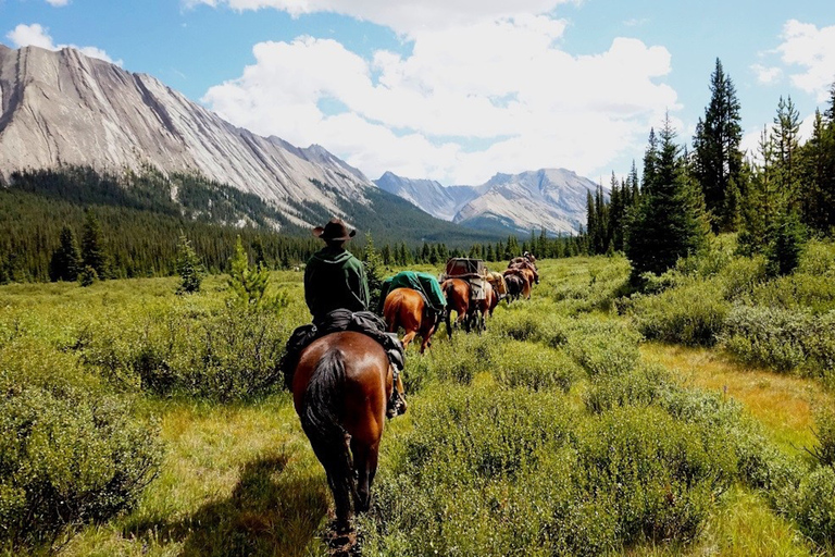
MULTIPOLYGON (((236 127, 149 75, 72 48, 0 45, 0 183, 15 171, 62 166, 195 175, 256 195, 273 211, 232 222, 296 232, 335 214, 397 239, 479 242, 543 227, 575 233, 586 191, 595 188, 566 170, 497 174, 479 186, 391 173, 371 182, 321 146, 300 148, 236 127)), ((185 202, 176 187, 172 199, 185 202)))

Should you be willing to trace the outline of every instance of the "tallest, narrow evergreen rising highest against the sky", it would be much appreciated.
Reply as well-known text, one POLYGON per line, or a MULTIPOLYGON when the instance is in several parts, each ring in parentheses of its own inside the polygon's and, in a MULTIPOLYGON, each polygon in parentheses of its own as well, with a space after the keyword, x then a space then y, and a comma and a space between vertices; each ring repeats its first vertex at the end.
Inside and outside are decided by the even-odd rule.
POLYGON ((710 76, 710 92, 705 120, 699 119, 693 138, 693 172, 713 218, 713 228, 728 231, 734 228, 738 210, 743 128, 736 89, 719 59, 710 76))

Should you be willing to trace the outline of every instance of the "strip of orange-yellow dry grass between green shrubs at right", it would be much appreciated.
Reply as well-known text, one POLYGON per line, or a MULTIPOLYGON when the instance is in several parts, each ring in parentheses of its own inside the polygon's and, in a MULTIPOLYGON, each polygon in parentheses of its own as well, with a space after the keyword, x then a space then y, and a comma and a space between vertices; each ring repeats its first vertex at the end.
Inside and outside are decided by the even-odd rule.
POLYGON ((685 385, 719 391, 738 400, 789 453, 814 444, 815 405, 835 404, 835 397, 814 380, 747 368, 713 349, 647 343, 641 355, 678 371, 685 385))

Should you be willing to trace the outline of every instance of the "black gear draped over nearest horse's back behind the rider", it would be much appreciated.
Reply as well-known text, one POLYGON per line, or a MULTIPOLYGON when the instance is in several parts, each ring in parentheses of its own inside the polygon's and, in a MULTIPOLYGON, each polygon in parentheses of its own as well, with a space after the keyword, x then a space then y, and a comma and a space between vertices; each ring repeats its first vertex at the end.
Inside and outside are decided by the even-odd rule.
POLYGON ((388 361, 395 369, 395 383, 397 382, 397 376, 406 364, 403 343, 397 337, 397 333, 386 333, 386 323, 371 311, 354 312, 335 309, 322 320, 314 320, 313 323, 297 327, 287 341, 279 367, 284 372, 284 384, 288 389, 292 391, 292 374, 302 350, 316 338, 342 331, 363 333, 376 341, 386 350, 388 361))

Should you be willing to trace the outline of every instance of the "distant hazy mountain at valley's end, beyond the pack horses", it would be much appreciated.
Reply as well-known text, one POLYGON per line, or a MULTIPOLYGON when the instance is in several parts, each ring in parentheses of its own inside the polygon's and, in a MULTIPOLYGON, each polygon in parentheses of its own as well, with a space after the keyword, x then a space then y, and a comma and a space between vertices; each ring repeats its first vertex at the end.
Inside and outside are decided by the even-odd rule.
POLYGON ((375 183, 438 219, 503 234, 541 228, 550 234, 576 234, 586 221, 586 194, 597 187, 564 169, 496 174, 479 186, 444 187, 390 172, 375 183))

